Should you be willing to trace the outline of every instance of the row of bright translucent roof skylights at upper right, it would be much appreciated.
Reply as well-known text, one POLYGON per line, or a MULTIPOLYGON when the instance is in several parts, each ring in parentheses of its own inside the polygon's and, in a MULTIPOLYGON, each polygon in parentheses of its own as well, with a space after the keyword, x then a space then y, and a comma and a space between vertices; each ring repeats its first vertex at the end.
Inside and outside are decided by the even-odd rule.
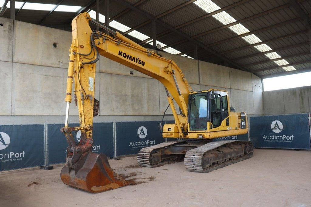
MULTIPOLYGON (((196 4, 198 7, 206 11, 207 13, 211 13, 213 11, 219 10, 220 7, 218 7, 214 2, 211 0, 197 0, 193 2, 196 4)), ((227 25, 233 22, 236 22, 236 20, 230 16, 227 12, 222 11, 218 14, 212 15, 216 20, 220 21, 223 25, 227 25)), ((241 35, 250 32, 246 27, 244 27, 242 24, 236 24, 233 26, 228 27, 230 30, 234 31, 236 34, 241 35)), ((245 37, 242 37, 246 42, 249 44, 256 44, 262 42, 261 39, 259 39, 255 34, 251 34, 245 37)), ((261 44, 254 46, 256 49, 258 49, 260 52, 266 52, 272 50, 267 44, 261 44)), ((277 53, 268 53, 265 54, 268 58, 270 59, 276 59, 276 58, 281 58, 280 55, 277 53)), ((282 66, 282 65, 287 65, 289 64, 286 60, 278 60, 274 61, 277 65, 282 66)), ((283 67, 285 71, 293 71, 296 70, 294 67, 283 67)))

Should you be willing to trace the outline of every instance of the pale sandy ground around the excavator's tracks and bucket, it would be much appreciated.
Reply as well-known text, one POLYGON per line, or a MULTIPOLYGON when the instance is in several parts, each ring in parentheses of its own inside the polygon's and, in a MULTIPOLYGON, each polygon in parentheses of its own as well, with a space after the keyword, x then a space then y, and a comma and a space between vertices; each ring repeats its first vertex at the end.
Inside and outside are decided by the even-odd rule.
POLYGON ((62 166, 3 172, 0 206, 311 206, 310 155, 257 149, 211 173, 188 172, 183 162, 145 168, 135 156, 123 157, 109 160, 111 167, 139 184, 99 194, 63 184, 62 166))

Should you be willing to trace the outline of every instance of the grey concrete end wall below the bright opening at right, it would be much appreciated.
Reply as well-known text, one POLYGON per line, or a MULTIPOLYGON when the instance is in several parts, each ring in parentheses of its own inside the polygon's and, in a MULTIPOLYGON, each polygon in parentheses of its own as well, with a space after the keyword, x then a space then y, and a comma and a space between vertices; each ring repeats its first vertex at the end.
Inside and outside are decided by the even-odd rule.
POLYGON ((264 114, 311 111, 311 86, 263 92, 264 114))

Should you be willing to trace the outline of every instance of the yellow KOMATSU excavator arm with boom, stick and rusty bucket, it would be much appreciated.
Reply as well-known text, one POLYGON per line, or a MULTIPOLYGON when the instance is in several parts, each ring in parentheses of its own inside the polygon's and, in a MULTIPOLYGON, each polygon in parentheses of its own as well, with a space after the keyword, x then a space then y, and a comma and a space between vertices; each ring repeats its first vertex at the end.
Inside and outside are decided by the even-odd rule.
POLYGON ((112 171, 104 154, 91 152, 93 117, 99 112, 99 102, 94 97, 94 91, 96 62, 100 55, 163 83, 179 137, 187 133, 188 96, 192 89, 174 61, 160 57, 122 34, 101 25, 86 12, 79 14, 72 21, 72 44, 69 52, 66 120, 65 127, 61 129, 66 136, 68 148, 66 165, 61 172, 62 181, 90 192, 102 192, 128 185, 129 182, 112 171), (100 31, 92 31, 90 21, 114 34, 114 38, 100 31), (68 127, 72 89, 79 111, 79 127, 68 127), (183 116, 176 112, 172 97, 183 116), (81 131, 78 144, 72 136, 72 131, 77 130, 81 131))

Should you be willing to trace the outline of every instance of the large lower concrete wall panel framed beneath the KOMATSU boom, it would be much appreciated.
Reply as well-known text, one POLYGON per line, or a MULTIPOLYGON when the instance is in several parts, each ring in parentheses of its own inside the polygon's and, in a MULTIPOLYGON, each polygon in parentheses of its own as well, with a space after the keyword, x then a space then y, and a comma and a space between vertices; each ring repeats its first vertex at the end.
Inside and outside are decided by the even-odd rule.
POLYGON ((159 115, 159 82, 100 73, 100 115, 159 115))

